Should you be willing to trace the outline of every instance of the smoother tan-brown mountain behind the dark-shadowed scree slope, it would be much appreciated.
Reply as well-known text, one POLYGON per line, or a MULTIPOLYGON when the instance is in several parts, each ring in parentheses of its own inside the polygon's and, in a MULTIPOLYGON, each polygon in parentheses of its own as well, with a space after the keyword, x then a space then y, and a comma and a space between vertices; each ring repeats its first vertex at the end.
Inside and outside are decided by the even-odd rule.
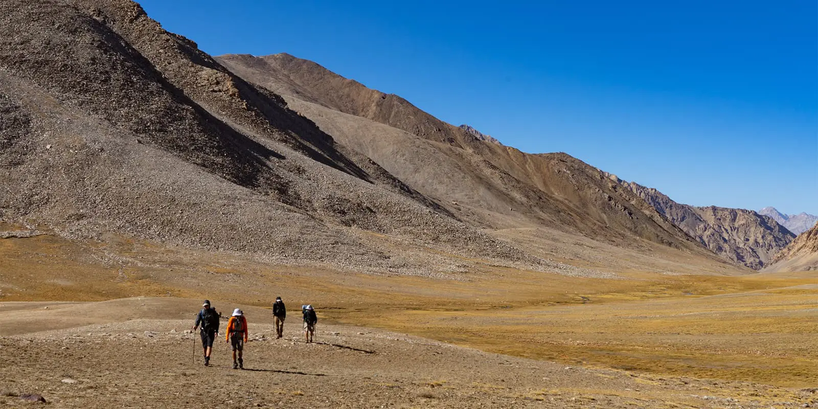
POLYGON ((569 155, 531 155, 487 142, 473 128, 446 124, 400 97, 289 54, 216 60, 250 83, 280 92, 290 108, 336 141, 466 222, 495 231, 579 233, 623 247, 639 247, 642 242, 633 240, 638 237, 702 254, 700 245, 644 200, 569 155))

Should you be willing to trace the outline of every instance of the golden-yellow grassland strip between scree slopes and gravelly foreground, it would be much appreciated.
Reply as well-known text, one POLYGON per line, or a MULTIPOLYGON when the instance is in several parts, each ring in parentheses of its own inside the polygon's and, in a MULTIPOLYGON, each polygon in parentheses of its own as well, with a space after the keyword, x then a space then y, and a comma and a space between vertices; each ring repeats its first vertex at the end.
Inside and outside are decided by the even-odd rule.
MULTIPOLYGON (((482 267, 430 279, 270 267, 122 240, 0 240, 0 301, 146 296, 316 305, 376 326, 494 353, 654 375, 818 384, 818 274, 627 272, 616 279, 482 267)), ((262 318, 266 319, 266 317, 262 318)))

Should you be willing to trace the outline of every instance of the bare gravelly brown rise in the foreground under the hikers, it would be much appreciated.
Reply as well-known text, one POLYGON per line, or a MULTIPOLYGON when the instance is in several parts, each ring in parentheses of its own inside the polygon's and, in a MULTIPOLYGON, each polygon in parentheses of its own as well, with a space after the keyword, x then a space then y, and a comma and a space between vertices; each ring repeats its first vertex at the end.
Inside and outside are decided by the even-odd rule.
POLYGON ((295 306, 283 339, 274 339, 267 309, 239 306, 251 339, 245 371, 230 369, 223 341, 205 367, 196 335, 186 332, 192 320, 162 318, 192 317, 196 307, 170 298, 0 303, 0 403, 28 407, 17 397, 23 393, 43 395, 50 407, 83 408, 767 408, 818 401, 807 390, 564 366, 321 322, 317 342, 305 344, 295 306), (142 318, 117 321, 124 312, 142 318), (106 322, 47 328, 69 316, 106 322), (11 331, 17 335, 6 335, 11 331))

